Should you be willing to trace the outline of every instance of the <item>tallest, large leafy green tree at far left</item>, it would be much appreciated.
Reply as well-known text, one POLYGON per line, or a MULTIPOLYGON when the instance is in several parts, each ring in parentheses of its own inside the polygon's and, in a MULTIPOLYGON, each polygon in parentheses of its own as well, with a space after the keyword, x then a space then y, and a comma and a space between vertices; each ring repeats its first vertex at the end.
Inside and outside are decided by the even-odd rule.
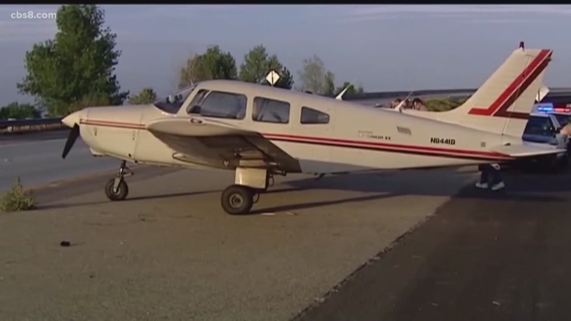
POLYGON ((18 89, 35 96, 51 115, 87 106, 120 105, 113 75, 120 51, 116 35, 103 29, 104 11, 95 5, 63 5, 57 12, 55 39, 37 43, 26 53, 27 75, 18 89))

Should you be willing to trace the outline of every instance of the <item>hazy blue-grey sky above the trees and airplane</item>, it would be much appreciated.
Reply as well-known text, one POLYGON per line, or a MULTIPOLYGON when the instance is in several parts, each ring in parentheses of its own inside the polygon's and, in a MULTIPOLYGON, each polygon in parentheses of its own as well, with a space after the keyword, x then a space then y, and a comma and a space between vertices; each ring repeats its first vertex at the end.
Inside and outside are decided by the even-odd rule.
MULTIPOLYGON (((55 19, 12 13, 55 13, 54 5, 0 5, 0 106, 31 102, 18 94, 26 51, 53 39, 55 19)), ((192 53, 211 44, 240 66, 262 44, 299 85, 303 59, 316 54, 344 81, 365 91, 476 88, 520 41, 553 49, 548 87, 571 87, 571 5, 102 5, 122 54, 122 90, 176 90, 192 53)))

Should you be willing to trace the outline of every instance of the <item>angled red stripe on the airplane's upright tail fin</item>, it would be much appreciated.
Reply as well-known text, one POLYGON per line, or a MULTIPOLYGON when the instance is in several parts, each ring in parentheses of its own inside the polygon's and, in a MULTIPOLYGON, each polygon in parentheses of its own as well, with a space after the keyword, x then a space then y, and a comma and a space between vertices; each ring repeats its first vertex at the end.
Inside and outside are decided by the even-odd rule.
POLYGON ((526 119, 529 117, 529 113, 518 113, 508 111, 509 106, 513 104, 521 94, 531 85, 531 83, 545 70, 549 63, 549 59, 553 51, 548 49, 543 49, 533 59, 532 63, 518 75, 516 79, 508 88, 504 90, 503 93, 490 105, 488 108, 485 107, 473 107, 468 114, 471 115, 481 115, 481 116, 494 116, 494 117, 513 117, 526 119))

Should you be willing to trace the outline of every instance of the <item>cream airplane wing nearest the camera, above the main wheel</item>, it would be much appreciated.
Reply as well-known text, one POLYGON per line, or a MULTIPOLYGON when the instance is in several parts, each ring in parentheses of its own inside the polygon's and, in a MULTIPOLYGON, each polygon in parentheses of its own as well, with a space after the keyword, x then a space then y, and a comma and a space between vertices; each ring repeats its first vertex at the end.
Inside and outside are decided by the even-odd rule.
POLYGON ((216 119, 167 117, 146 129, 176 153, 174 158, 218 168, 256 167, 300 172, 299 162, 256 131, 216 119))

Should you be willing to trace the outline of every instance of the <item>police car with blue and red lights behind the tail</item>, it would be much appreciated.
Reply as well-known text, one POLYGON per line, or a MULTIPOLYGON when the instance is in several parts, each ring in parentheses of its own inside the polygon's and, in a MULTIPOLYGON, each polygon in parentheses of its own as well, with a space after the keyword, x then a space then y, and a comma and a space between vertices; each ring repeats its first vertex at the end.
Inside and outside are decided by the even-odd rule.
MULTIPOLYGON (((571 107, 554 107, 552 103, 538 103, 529 115, 522 139, 529 143, 542 143, 568 149, 569 137, 559 133, 571 121, 571 107)), ((569 164, 568 153, 534 158, 532 163, 558 168, 569 164)))

